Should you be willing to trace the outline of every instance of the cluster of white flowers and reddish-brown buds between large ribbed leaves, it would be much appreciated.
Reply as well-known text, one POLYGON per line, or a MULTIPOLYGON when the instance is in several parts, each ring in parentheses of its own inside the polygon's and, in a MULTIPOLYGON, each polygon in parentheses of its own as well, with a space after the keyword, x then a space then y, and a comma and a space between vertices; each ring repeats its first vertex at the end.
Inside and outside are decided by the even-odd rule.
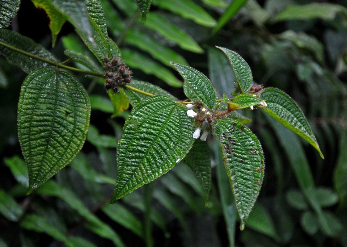
POLYGON ((196 129, 193 133, 193 138, 197 139, 200 137, 201 129, 204 127, 205 123, 207 123, 207 126, 205 127, 205 130, 200 137, 201 140, 206 140, 207 136, 209 135, 211 123, 213 120, 213 116, 210 110, 204 108, 204 106, 199 101, 195 102, 195 104, 187 104, 186 108, 188 109, 188 117, 195 119, 194 126, 196 126, 196 129))

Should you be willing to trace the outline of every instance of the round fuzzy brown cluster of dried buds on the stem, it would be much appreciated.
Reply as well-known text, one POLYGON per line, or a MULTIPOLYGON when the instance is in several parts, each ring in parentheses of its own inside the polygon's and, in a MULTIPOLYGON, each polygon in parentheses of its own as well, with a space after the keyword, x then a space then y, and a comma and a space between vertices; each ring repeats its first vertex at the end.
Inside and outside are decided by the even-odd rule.
POLYGON ((118 88, 121 85, 130 83, 132 72, 123 60, 120 61, 118 58, 110 60, 108 57, 105 57, 103 62, 106 69, 105 88, 107 90, 111 88, 113 91, 118 92, 118 88))

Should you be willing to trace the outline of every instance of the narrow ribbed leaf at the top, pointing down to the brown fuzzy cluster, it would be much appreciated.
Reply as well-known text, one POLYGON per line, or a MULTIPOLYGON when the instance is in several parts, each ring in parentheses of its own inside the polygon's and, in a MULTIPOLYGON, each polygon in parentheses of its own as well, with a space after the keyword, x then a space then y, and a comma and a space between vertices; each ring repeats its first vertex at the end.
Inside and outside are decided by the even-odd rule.
POLYGON ((104 17, 104 10, 99 0, 86 0, 87 11, 89 14, 89 20, 99 33, 101 40, 103 41, 106 49, 108 50, 109 57, 112 57, 112 52, 108 39, 107 25, 104 17))

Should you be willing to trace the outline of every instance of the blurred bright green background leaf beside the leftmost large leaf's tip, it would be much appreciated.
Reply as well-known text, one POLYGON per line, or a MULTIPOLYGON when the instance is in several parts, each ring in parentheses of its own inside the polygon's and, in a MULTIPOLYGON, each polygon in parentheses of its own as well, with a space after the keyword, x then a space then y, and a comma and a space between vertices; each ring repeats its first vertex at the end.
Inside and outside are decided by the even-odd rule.
POLYGON ((29 185, 28 170, 26 169, 25 161, 19 156, 13 156, 11 158, 5 158, 5 165, 11 170, 12 175, 16 181, 27 188, 29 185))

